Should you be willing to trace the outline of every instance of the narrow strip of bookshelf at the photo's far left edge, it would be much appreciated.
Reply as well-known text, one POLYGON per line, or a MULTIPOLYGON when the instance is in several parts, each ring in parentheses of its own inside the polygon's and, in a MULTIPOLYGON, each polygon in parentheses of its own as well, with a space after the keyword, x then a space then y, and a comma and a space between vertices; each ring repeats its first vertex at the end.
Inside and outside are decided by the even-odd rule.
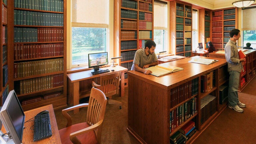
POLYGON ((7 32, 9 31, 9 27, 7 27, 8 24, 8 20, 7 20, 7 12, 9 11, 9 3, 7 3, 7 0, 2 0, 1 3, 1 44, 2 44, 2 48, 1 48, 1 71, 0 71, 0 87, 1 87, 1 91, 0 91, 0 103, 1 105, 3 105, 6 97, 8 96, 9 93, 9 63, 7 62, 7 55, 8 55, 8 51, 7 48, 8 46, 8 35, 7 32))

